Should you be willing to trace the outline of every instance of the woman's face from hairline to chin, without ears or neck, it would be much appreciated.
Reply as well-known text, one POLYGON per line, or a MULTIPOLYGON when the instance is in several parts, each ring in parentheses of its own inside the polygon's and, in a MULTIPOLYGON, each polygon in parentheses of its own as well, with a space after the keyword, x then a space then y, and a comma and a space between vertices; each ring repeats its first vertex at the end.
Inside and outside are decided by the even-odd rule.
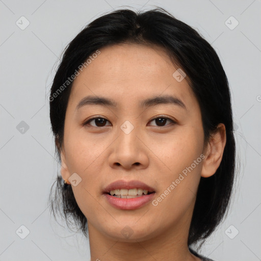
MULTIPOLYGON (((159 47, 121 44, 100 49, 74 80, 61 172, 64 179, 76 173, 69 180, 90 232, 131 242, 189 229, 204 136, 198 102, 176 70, 159 47), (87 96, 113 100, 114 106, 95 105, 87 96), (143 106, 155 97, 158 102, 143 106), (102 119, 89 121, 94 117, 102 119), (105 189, 117 180, 141 181, 154 193, 109 196, 105 189)), ((135 186, 142 189, 127 187, 135 194, 135 186)))

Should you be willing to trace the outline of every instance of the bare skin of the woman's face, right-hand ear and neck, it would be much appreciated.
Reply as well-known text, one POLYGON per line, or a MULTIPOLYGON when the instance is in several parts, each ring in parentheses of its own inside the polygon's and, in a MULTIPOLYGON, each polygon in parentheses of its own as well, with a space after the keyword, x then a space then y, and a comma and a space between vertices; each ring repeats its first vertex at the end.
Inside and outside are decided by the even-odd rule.
POLYGON ((219 124, 203 146, 198 102, 187 79, 172 76, 176 68, 160 47, 117 44, 100 51, 74 80, 61 151, 62 177, 76 172, 82 178, 72 189, 88 220, 91 260, 200 260, 187 246, 189 226, 200 176, 213 175, 222 160, 225 126, 219 124), (165 94, 178 97, 187 110, 173 104, 139 107, 139 101, 165 94), (114 99, 117 107, 75 110, 87 95, 114 99), (176 123, 153 120, 161 115, 176 123), (95 116, 108 121, 83 125, 95 116), (129 134, 120 128, 126 120, 134 126, 129 134), (157 206, 119 210, 102 195, 113 181, 138 179, 158 198, 202 153, 204 160, 157 206), (133 232, 129 238, 121 233, 125 226, 133 232))

